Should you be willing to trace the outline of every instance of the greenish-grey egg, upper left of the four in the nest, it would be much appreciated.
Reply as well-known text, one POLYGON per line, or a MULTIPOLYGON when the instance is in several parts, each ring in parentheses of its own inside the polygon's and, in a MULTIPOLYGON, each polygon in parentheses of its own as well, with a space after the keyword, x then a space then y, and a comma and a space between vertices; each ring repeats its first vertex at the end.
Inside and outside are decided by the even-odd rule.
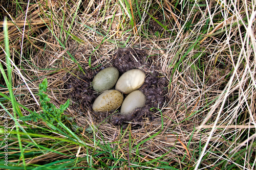
POLYGON ((97 92, 109 90, 115 86, 119 71, 115 67, 104 68, 93 79, 93 89, 97 92))

